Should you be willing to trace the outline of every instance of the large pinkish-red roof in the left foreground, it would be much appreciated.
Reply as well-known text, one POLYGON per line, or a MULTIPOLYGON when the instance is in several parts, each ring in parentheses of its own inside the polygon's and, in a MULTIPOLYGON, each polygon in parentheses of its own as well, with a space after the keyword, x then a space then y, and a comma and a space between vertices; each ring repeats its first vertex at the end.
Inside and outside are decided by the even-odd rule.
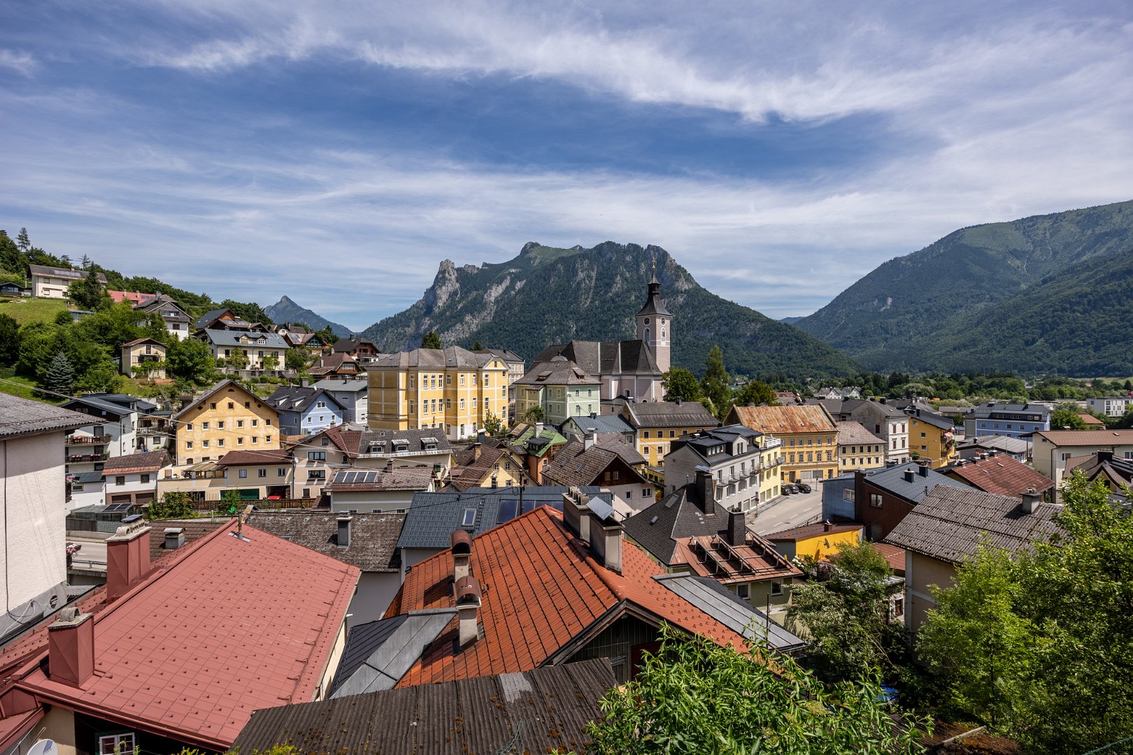
POLYGON ((240 541, 235 529, 169 554, 113 603, 102 590, 84 601, 95 610, 95 674, 82 688, 41 669, 45 630, 20 641, 23 652, 8 649, 29 661, 17 686, 220 750, 253 710, 314 700, 360 573, 247 525, 240 541))

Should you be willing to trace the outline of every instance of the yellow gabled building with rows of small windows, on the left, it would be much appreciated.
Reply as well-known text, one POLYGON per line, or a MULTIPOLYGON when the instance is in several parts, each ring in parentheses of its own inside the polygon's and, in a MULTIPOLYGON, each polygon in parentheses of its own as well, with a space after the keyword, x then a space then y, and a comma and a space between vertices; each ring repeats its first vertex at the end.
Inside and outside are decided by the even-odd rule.
POLYGON ((173 417, 176 464, 219 460, 230 451, 280 447, 279 413, 233 380, 221 380, 173 417))

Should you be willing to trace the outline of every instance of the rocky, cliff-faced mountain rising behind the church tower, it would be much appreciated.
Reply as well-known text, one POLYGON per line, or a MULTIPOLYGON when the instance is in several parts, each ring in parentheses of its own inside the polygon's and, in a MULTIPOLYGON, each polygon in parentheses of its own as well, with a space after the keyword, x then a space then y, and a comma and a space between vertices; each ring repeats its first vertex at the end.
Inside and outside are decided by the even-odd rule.
POLYGON ((479 267, 457 267, 446 259, 420 300, 364 335, 383 351, 400 351, 436 331, 445 345, 468 348, 478 341, 527 359, 572 338, 632 338, 654 259, 673 314, 675 367, 700 374, 708 350, 718 343, 727 369, 740 375, 855 371, 852 360, 802 331, 706 291, 664 249, 613 241, 593 249, 529 242, 518 257, 479 267))

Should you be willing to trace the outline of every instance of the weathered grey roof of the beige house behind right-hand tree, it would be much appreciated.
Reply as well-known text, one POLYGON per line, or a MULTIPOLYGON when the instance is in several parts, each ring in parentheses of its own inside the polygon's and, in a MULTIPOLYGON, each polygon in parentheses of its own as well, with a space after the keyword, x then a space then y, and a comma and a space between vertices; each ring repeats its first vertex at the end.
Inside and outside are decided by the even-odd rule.
POLYGON ((1014 496, 974 488, 937 486, 893 527, 885 542, 959 564, 976 555, 987 538, 995 548, 1015 552, 1060 532, 1055 515, 1062 506, 1040 503, 1023 512, 1014 496))

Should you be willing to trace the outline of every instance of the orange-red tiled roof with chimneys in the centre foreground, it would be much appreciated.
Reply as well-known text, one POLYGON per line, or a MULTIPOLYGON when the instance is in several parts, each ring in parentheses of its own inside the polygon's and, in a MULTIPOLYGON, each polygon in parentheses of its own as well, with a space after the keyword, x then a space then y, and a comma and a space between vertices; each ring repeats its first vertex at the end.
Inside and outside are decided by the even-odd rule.
MULTIPOLYGON (((450 550, 416 564, 386 617, 451 608, 452 568, 450 550)), ((732 629, 653 580, 665 569, 631 541, 623 540, 622 574, 612 572, 548 506, 478 535, 471 573, 485 585, 478 617, 484 636, 454 653, 453 619, 399 687, 537 668, 623 600, 721 644, 743 644, 732 629)))

